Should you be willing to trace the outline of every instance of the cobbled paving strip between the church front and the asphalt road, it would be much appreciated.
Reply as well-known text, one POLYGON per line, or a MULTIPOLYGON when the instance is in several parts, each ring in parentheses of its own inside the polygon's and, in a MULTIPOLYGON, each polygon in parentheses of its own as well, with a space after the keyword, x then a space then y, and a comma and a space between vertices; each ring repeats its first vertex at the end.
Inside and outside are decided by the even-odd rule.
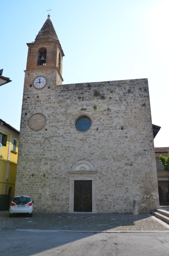
POLYGON ((65 231, 168 231, 169 225, 151 214, 69 214, 33 213, 14 215, 0 211, 0 230, 65 230, 65 231), (164 225, 163 225, 164 223, 164 225))

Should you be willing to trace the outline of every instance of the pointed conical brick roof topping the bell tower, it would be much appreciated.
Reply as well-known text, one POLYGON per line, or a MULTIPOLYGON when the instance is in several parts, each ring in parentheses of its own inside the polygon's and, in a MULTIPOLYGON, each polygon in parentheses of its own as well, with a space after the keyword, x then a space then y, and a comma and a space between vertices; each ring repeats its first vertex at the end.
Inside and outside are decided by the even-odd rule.
POLYGON ((38 35, 35 38, 35 42, 49 42, 58 40, 55 29, 53 27, 50 15, 48 15, 47 20, 45 21, 43 27, 40 29, 38 35))

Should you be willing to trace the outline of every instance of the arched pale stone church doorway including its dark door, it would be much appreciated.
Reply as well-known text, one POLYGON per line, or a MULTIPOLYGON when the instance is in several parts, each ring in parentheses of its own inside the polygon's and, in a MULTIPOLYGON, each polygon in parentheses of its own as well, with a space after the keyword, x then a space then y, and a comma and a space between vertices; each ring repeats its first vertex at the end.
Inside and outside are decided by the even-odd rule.
POLYGON ((96 213, 96 174, 86 159, 76 161, 69 172, 69 213, 96 213))

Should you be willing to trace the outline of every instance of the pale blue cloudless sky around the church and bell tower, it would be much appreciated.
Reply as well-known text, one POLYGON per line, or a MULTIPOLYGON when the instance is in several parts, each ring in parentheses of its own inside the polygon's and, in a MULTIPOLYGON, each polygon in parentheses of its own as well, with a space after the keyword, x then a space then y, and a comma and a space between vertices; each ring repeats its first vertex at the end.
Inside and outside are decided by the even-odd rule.
MULTIPOLYGON (((20 129, 28 47, 50 18, 63 84, 148 78, 155 147, 169 147, 169 0, 1 1, 0 119, 20 129)), ((141 127, 140 127, 141 130, 141 127)), ((140 132, 138 130, 138 132, 140 132)))

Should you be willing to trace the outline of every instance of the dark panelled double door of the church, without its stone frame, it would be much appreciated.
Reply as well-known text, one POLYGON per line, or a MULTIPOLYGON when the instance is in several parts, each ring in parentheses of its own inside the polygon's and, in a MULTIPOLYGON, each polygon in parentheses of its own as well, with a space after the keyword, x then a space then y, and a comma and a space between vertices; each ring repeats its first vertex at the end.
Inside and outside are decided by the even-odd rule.
POLYGON ((92 180, 74 182, 74 212, 92 212, 92 180))

